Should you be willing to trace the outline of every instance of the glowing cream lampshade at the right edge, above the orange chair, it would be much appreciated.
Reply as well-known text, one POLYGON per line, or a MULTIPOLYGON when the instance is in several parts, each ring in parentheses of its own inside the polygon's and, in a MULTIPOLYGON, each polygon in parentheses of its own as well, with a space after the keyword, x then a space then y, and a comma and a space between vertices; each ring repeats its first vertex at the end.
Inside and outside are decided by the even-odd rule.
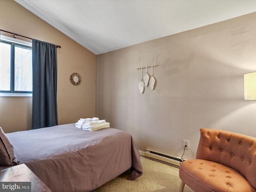
POLYGON ((256 72, 244 74, 244 100, 256 100, 256 72))

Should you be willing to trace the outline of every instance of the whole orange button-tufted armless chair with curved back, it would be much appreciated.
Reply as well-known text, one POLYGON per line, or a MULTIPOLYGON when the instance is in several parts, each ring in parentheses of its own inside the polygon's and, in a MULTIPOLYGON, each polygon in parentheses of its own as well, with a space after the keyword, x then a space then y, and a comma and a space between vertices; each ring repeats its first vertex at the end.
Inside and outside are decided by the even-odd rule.
POLYGON ((256 192, 256 138, 200 129, 196 159, 180 164, 180 192, 256 192))

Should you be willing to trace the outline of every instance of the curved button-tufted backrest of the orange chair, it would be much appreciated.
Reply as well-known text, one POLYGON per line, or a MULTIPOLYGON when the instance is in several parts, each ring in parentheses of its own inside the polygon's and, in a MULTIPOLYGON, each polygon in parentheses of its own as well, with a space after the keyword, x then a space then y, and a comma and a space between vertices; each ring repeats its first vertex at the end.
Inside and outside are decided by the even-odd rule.
POLYGON ((196 159, 231 167, 256 188, 256 138, 206 128, 201 128, 200 132, 196 159))

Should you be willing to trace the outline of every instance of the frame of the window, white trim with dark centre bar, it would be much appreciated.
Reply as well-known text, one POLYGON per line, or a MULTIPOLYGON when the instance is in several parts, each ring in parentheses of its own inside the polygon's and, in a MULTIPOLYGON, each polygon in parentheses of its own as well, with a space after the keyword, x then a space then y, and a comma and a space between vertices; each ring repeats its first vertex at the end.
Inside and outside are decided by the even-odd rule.
POLYGON ((11 83, 10 83, 10 91, 1 91, 0 90, 0 96, 14 96, 14 97, 32 97, 32 91, 14 91, 14 66, 15 66, 15 49, 13 46, 18 46, 22 48, 27 48, 32 50, 32 42, 12 38, 9 36, 0 35, 0 41, 11 44, 11 83))

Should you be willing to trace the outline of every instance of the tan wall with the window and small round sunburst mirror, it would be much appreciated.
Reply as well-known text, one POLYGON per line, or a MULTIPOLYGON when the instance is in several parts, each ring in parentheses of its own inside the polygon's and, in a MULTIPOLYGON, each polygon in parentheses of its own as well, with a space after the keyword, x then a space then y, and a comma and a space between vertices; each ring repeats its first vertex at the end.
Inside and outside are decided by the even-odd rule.
MULTIPOLYGON (((0 8, 0 29, 61 46, 57 48, 59 124, 95 116, 96 55, 15 1, 0 0, 0 8), (82 77, 78 86, 69 81, 73 72, 82 77)), ((30 129, 31 118, 32 98, 0 97, 0 126, 5 132, 30 129)))

